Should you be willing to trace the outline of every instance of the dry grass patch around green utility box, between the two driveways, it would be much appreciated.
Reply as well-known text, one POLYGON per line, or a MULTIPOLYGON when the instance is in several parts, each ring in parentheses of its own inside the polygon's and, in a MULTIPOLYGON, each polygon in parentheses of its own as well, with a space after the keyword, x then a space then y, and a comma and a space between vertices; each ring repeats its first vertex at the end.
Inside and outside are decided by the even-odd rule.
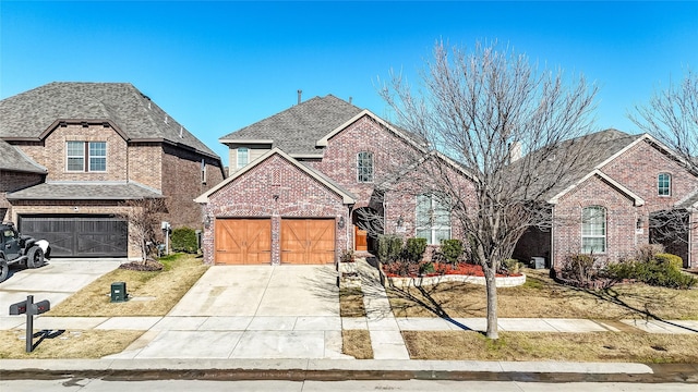
POLYGON ((208 267, 195 255, 172 255, 160 261, 165 269, 157 272, 113 270, 60 303, 47 316, 165 316, 208 267), (112 282, 125 282, 131 299, 110 303, 112 282))

